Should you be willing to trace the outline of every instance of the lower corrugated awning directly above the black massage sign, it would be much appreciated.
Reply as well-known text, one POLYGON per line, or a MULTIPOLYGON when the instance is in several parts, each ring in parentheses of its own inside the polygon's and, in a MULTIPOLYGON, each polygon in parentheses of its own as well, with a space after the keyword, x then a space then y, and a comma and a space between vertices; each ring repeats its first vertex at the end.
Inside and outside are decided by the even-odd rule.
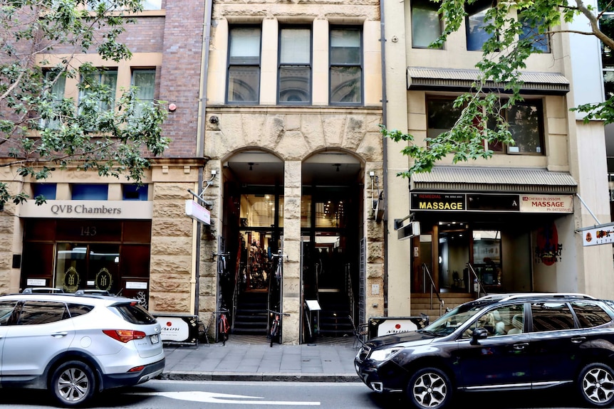
POLYGON ((576 194, 578 184, 567 172, 547 169, 433 166, 430 172, 412 174, 410 188, 412 191, 576 194))

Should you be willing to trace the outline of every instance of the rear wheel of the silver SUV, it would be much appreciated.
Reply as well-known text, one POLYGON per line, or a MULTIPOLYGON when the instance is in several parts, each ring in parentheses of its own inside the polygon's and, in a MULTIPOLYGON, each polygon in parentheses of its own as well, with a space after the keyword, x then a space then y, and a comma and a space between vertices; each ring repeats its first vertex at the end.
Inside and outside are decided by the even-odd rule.
POLYGON ((81 361, 62 363, 51 376, 50 389, 63 407, 82 405, 94 395, 94 373, 81 361))

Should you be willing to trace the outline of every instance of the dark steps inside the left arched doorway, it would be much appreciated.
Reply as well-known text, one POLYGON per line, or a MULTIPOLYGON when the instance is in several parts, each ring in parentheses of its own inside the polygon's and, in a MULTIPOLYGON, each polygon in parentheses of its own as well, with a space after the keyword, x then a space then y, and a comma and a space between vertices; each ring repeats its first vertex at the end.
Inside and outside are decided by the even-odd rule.
POLYGON ((239 295, 232 334, 266 335, 265 291, 246 291, 239 295))

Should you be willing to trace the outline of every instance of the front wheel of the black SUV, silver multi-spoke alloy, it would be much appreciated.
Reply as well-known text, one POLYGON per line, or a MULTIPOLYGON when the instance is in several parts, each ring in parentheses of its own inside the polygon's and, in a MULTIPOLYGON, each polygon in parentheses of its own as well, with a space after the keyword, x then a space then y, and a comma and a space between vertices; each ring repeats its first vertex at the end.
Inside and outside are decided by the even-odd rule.
POLYGON ((410 378, 407 398, 416 408, 442 409, 452 398, 452 383, 444 371, 422 368, 410 378))

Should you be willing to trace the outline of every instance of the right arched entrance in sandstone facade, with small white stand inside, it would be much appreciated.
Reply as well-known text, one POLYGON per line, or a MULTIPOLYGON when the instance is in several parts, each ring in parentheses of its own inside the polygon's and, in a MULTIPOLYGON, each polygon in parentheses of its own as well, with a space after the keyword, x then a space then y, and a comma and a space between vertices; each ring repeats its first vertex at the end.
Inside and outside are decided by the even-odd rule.
POLYGON ((348 336, 364 299, 363 164, 327 151, 303 161, 301 174, 302 341, 348 336))

